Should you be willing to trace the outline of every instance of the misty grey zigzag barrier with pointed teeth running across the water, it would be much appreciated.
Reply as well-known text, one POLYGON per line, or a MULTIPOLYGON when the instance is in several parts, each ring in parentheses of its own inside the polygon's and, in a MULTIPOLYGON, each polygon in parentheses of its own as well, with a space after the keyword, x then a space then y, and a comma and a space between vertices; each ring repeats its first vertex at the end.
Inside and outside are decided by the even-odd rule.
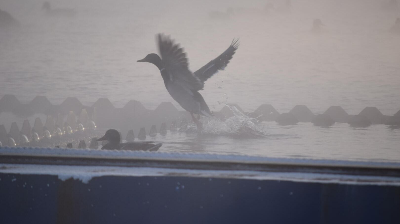
MULTIPOLYGON (((393 116, 385 116, 376 107, 366 107, 359 114, 349 115, 342 107, 331 106, 323 114, 316 115, 305 105, 296 105, 289 113, 284 114, 280 114, 270 104, 262 104, 250 113, 244 112, 238 104, 227 105, 220 111, 213 112, 214 116, 224 120, 234 116, 234 113, 242 113, 256 118, 259 122, 276 121, 280 125, 312 122, 315 126, 331 126, 338 122, 356 127, 371 124, 400 126, 400 110, 393 116)), ((95 128, 117 128, 124 134, 132 131, 128 134, 127 141, 134 140, 135 132, 139 133, 140 140, 145 140, 146 135, 157 134, 157 125, 160 127, 160 134, 165 134, 167 126, 170 127, 170 131, 177 131, 179 127, 183 130, 191 120, 188 112, 177 110, 171 102, 162 102, 156 109, 148 110, 139 101, 130 100, 123 108, 115 108, 107 98, 98 99, 92 106, 84 106, 76 97, 68 97, 60 105, 53 105, 45 96, 36 96, 30 103, 22 104, 16 96, 4 95, 0 99, 0 112, 12 112, 23 116, 33 114, 47 116, 44 126, 40 118, 36 118, 33 128, 28 120, 24 120, 21 129, 16 123, 12 123, 9 132, 4 126, 0 126, 0 141, 3 145, 9 145, 12 141, 18 145, 24 136, 28 140, 40 139, 47 131, 50 134, 60 132, 71 134, 77 130, 95 128), (150 132, 146 133, 146 130, 150 132)))

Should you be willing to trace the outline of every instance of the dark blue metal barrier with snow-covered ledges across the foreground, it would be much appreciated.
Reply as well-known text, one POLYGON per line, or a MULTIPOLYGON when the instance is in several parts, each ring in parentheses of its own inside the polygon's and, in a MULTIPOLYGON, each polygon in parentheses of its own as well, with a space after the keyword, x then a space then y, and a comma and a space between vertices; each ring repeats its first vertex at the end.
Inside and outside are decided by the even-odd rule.
POLYGON ((400 223, 398 163, 11 149, 1 223, 400 223))

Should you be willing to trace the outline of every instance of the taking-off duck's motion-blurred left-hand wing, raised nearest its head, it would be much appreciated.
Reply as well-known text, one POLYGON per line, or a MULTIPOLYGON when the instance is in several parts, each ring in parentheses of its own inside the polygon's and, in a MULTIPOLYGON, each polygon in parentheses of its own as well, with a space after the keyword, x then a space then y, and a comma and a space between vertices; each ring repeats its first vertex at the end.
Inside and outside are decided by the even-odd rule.
POLYGON ((192 90, 201 90, 204 83, 188 69, 188 59, 179 44, 164 34, 158 34, 158 47, 170 81, 192 90))

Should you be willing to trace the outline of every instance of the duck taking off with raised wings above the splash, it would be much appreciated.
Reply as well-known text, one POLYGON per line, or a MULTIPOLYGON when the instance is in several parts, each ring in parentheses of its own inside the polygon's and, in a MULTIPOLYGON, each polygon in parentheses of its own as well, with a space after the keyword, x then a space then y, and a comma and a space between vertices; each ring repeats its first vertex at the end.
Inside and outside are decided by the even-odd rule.
POLYGON ((238 49, 238 40, 233 40, 228 49, 220 56, 192 73, 188 68, 186 53, 183 52, 183 48, 179 44, 175 44, 169 36, 164 34, 158 34, 157 39, 161 58, 155 53, 150 53, 138 62, 149 62, 160 69, 169 94, 182 108, 190 112, 193 121, 199 127, 200 123, 193 114, 201 114, 207 117, 212 117, 212 115, 210 108, 208 108, 198 90, 203 89, 204 82, 208 78, 219 70, 225 69, 236 49, 238 49))

